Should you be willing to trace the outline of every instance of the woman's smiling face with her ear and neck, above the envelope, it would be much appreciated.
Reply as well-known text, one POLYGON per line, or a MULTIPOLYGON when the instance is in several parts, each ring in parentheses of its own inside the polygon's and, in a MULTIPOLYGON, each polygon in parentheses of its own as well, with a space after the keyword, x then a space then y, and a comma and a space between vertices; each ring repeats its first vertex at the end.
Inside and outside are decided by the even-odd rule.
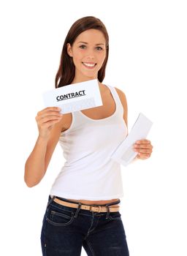
POLYGON ((96 79, 106 57, 106 40, 97 29, 81 33, 73 45, 67 44, 67 53, 75 64, 75 78, 72 83, 96 79))

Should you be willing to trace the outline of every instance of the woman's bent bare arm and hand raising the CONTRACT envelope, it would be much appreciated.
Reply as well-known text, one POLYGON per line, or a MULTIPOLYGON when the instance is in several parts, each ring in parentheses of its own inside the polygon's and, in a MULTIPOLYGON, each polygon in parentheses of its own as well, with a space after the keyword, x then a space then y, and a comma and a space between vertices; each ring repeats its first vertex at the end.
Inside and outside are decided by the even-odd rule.
POLYGON ((25 164, 24 180, 28 187, 34 187, 45 176, 62 129, 62 115, 57 108, 40 111, 36 121, 39 136, 25 164))

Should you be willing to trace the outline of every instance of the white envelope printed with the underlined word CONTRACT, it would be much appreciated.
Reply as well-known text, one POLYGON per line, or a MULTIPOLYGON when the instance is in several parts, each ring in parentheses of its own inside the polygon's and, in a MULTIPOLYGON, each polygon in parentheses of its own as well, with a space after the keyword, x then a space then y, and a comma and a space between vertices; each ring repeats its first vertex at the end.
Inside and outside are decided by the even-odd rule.
POLYGON ((103 105, 97 79, 46 91, 43 99, 46 108, 59 107, 61 113, 71 113, 103 105))

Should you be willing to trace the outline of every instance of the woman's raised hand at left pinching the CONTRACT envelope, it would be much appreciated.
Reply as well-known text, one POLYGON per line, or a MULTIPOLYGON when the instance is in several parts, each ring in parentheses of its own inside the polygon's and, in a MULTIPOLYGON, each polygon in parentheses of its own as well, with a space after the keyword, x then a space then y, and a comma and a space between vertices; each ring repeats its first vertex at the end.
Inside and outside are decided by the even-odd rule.
POLYGON ((61 108, 48 107, 37 113, 36 121, 39 130, 39 137, 49 138, 50 131, 54 124, 58 123, 63 116, 61 113, 61 108))

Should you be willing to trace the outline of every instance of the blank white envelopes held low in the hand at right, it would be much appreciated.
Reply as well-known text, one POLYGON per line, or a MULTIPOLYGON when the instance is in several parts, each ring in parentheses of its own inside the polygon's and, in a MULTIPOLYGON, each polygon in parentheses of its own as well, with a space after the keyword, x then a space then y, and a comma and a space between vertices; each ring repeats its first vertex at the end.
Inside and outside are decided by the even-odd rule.
POLYGON ((137 156, 137 152, 133 150, 134 143, 147 137, 152 124, 152 121, 140 113, 137 121, 135 121, 134 126, 131 128, 131 132, 112 153, 111 159, 124 166, 129 165, 131 160, 137 156))

